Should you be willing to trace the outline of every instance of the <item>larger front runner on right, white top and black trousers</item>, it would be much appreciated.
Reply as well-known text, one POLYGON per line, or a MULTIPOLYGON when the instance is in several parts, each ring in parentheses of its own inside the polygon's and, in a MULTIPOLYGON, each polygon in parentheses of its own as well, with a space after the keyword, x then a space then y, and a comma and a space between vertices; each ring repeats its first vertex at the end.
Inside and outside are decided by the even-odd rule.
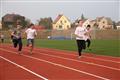
POLYGON ((79 21, 78 27, 75 30, 76 42, 78 46, 78 53, 79 57, 81 57, 81 52, 83 49, 86 48, 85 46, 85 35, 86 35, 86 28, 82 26, 83 21, 79 21))

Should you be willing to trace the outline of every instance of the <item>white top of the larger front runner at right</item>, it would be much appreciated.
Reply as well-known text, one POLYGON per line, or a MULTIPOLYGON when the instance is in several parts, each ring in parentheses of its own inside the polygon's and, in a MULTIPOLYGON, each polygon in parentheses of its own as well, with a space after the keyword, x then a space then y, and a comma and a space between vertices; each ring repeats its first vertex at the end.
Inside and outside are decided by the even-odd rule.
POLYGON ((76 37, 77 40, 85 40, 86 28, 78 26, 75 30, 75 34, 79 37, 76 37))

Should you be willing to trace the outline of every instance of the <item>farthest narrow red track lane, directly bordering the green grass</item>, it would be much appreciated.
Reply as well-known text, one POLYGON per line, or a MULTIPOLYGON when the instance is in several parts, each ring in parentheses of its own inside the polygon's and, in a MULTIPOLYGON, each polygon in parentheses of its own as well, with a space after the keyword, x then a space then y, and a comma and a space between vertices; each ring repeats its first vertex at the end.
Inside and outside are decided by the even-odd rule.
MULTIPOLYGON (((77 56, 78 53, 77 51, 67 51, 67 50, 58 50, 58 49, 50 49, 50 48, 35 48, 35 49, 41 49, 41 50, 47 50, 47 51, 51 51, 51 52, 60 52, 60 53, 66 53, 66 55, 72 55, 72 56, 77 56)), ((119 62, 120 58, 119 57, 112 57, 112 56, 105 56, 105 55, 96 55, 96 54, 92 54, 92 53, 83 53, 83 55, 85 57, 93 57, 95 59, 98 60, 105 60, 105 61, 113 61, 113 62, 119 62)))

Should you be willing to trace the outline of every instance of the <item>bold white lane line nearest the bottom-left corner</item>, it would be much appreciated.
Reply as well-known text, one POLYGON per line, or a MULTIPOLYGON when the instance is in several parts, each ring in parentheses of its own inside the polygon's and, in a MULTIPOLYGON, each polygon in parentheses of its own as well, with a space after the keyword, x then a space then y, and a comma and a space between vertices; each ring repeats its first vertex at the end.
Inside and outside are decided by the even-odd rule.
POLYGON ((47 78, 45 78, 45 77, 43 77, 43 76, 41 76, 41 75, 39 75, 39 74, 37 74, 37 73, 35 73, 35 72, 33 72, 33 71, 27 69, 27 68, 25 68, 25 67, 23 67, 23 66, 21 66, 21 65, 19 65, 19 64, 17 64, 17 63, 15 63, 15 62, 13 62, 13 61, 7 59, 7 58, 5 58, 5 57, 0 56, 0 58, 4 59, 4 60, 7 61, 7 62, 10 62, 10 63, 16 65, 17 67, 19 67, 19 68, 21 68, 21 69, 24 69, 25 71, 27 71, 27 72, 29 72, 29 73, 32 73, 33 75, 35 75, 35 76, 37 76, 37 77, 39 77, 39 78, 42 78, 42 79, 44 79, 44 80, 48 80, 47 78))

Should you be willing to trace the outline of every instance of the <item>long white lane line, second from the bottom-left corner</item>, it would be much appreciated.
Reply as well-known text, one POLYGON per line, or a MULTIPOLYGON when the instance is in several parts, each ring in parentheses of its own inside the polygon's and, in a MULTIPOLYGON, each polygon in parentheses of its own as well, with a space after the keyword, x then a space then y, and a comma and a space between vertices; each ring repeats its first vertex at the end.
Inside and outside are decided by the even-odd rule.
MULTIPOLYGON (((0 49, 1 49, 1 48, 0 48, 0 49)), ((13 53, 13 54, 14 54, 14 53, 17 54, 17 53, 14 52, 14 51, 9 51, 9 50, 5 50, 5 49, 1 49, 1 50, 6 51, 6 52, 10 52, 10 53, 13 53)), ((77 70, 77 69, 74 69, 74 68, 71 68, 71 67, 67 67, 67 66, 64 66, 64 65, 61 65, 61 64, 53 63, 53 62, 50 62, 50 61, 47 61, 47 60, 35 58, 35 57, 32 57, 32 56, 27 56, 27 55, 24 55, 24 54, 21 54, 21 55, 22 55, 22 56, 25 56, 25 57, 28 57, 28 58, 31 58, 31 59, 38 60, 38 61, 46 62, 46 63, 52 64, 52 65, 55 65, 55 66, 59 66, 59 67, 62 67, 62 68, 66 68, 66 69, 69 69, 69 70, 73 70, 73 71, 76 71, 76 72, 79 72, 79 73, 87 74, 87 75, 89 75, 89 76, 93 76, 93 77, 96 77, 96 78, 99 78, 99 79, 110 80, 110 79, 108 79, 108 78, 104 78, 104 77, 101 77, 101 76, 98 76, 98 75, 95 75, 95 74, 92 74, 92 73, 88 73, 88 72, 85 72, 85 71, 77 70)))

